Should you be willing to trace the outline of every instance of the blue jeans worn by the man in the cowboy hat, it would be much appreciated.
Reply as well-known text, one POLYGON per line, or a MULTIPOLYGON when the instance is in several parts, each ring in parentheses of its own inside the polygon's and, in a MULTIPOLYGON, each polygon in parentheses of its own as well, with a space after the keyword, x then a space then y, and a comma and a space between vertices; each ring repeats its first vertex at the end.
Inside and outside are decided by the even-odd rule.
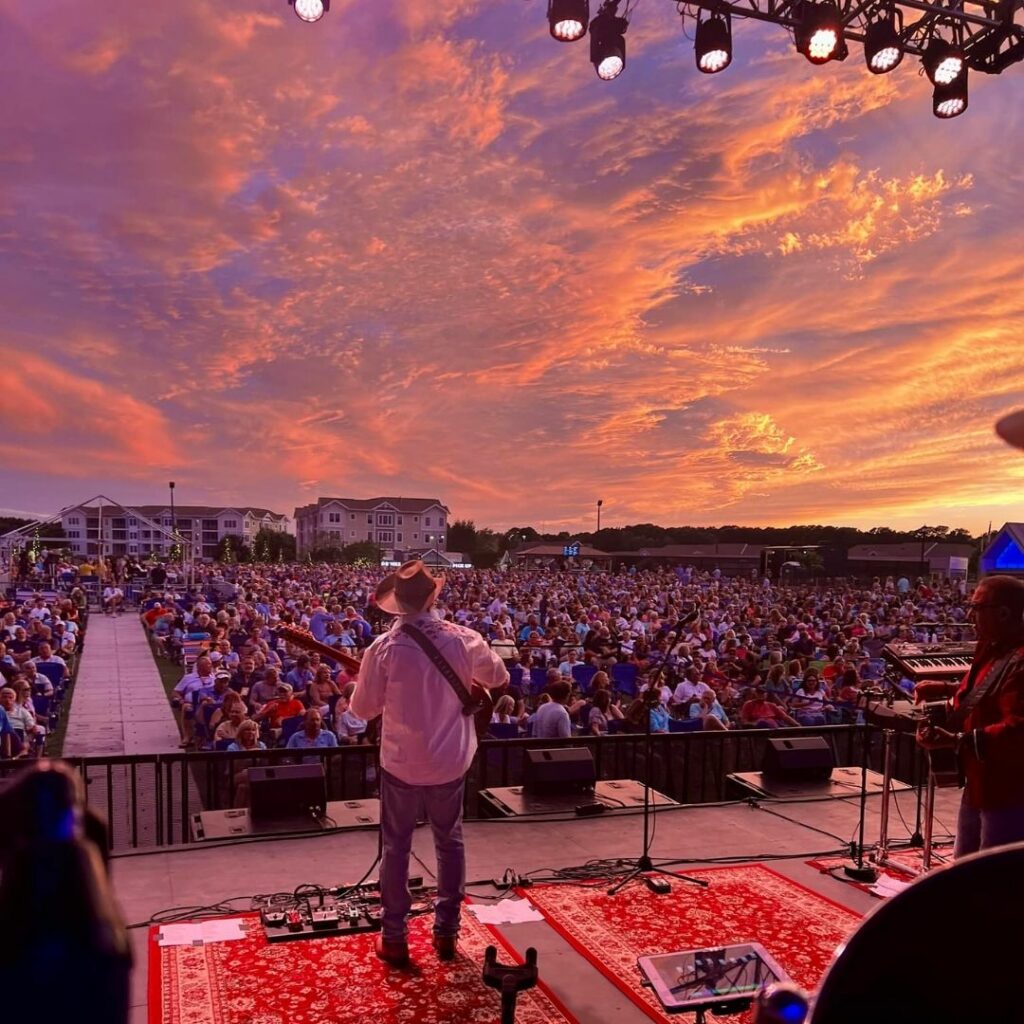
POLYGON ((442 785, 410 785, 381 771, 381 931, 386 940, 403 942, 409 934, 409 856, 421 812, 434 834, 437 854, 437 902, 434 934, 458 935, 466 892, 466 851, 462 841, 465 776, 442 785))

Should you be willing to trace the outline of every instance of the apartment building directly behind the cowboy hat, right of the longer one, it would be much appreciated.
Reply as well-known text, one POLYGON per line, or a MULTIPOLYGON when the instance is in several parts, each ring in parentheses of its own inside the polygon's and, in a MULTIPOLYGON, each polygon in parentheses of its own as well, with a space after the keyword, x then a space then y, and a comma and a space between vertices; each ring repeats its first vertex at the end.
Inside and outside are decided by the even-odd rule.
POLYGON ((296 549, 301 558, 313 548, 369 541, 385 558, 443 551, 450 519, 436 498, 317 498, 295 510, 296 549))

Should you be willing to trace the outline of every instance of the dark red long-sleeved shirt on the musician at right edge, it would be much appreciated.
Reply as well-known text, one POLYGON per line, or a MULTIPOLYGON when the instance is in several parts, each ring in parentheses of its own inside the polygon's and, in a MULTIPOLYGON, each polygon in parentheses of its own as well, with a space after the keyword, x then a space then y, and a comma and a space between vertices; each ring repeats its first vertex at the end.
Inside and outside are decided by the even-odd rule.
MULTIPOLYGON (((979 746, 981 758, 974 753, 974 742, 968 736, 962 746, 964 772, 967 776, 967 800, 972 807, 983 811, 1024 807, 1024 646, 1016 649, 1021 658, 987 692, 968 716, 965 732, 981 730, 979 746)), ((975 687, 981 686, 1002 656, 989 658, 978 673, 975 687)), ((953 707, 959 708, 967 695, 965 676, 953 697, 953 707)))

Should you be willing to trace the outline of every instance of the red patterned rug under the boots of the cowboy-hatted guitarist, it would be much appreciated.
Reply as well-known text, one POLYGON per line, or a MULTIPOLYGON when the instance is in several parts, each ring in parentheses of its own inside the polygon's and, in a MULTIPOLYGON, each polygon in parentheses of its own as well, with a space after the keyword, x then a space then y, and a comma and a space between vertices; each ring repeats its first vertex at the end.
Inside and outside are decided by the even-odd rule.
MULTIPOLYGON (((459 956, 438 962, 432 915, 410 922, 413 967, 374 954, 372 933, 267 943, 256 914, 248 937, 204 946, 157 944, 150 929, 150 1024, 498 1024, 501 998, 480 977, 497 933, 464 913, 459 956)), ((521 963, 521 961, 517 961, 521 963)), ((519 996, 521 1024, 575 1024, 542 984, 519 996)))

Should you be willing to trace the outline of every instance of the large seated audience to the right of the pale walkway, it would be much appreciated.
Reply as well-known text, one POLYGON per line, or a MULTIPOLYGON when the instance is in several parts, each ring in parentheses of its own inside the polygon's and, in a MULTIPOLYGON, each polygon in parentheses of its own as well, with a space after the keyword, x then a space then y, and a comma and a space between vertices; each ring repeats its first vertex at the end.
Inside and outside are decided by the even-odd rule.
MULTIPOLYGON (((358 656, 390 616, 384 572, 323 564, 212 570, 154 587, 141 614, 169 656, 202 654, 176 688, 181 745, 245 750, 373 739, 355 673, 293 647, 285 626, 358 656)), ((717 571, 456 570, 432 613, 483 636, 510 670, 494 734, 540 738, 820 726, 858 720, 891 640, 971 637, 964 581, 775 585, 717 571)), ((909 681, 903 681, 909 688, 909 681)))

